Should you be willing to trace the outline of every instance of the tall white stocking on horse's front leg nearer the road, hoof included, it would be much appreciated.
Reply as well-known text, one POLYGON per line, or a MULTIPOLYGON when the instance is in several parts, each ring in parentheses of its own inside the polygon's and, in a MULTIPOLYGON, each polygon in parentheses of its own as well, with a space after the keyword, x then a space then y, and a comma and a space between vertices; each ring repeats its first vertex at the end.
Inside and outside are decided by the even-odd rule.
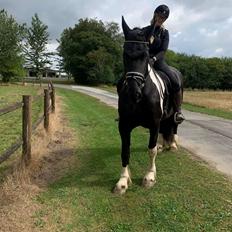
POLYGON ((149 150, 150 166, 149 166, 148 172, 143 178, 143 186, 146 188, 151 188, 156 182, 155 180, 156 178, 156 166, 155 166, 156 155, 157 155, 157 146, 149 150))

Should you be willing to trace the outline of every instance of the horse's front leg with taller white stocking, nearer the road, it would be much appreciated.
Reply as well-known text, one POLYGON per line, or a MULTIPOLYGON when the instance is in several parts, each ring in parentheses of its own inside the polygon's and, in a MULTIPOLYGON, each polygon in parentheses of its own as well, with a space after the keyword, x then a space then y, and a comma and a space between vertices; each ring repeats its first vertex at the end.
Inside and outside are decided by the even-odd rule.
POLYGON ((151 188, 156 182, 156 165, 155 158, 157 156, 157 139, 158 139, 158 130, 150 129, 150 140, 149 140, 149 158, 150 163, 148 171, 143 178, 143 186, 146 188, 151 188))

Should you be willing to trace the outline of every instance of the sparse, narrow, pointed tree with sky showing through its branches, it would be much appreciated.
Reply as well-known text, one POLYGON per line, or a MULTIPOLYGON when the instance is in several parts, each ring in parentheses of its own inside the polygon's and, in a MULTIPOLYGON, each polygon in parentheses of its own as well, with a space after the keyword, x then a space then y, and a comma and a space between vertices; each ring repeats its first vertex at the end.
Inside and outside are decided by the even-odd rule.
POLYGON ((48 26, 43 24, 38 15, 32 17, 31 27, 27 29, 25 43, 26 66, 33 68, 36 76, 40 76, 47 64, 51 64, 49 58, 52 53, 47 51, 48 26))

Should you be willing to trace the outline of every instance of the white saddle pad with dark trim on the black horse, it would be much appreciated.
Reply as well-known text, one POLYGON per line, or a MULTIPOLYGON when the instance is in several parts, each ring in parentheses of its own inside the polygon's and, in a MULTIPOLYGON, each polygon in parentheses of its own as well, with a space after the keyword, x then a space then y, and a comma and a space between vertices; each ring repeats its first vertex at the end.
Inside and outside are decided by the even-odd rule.
POLYGON ((153 70, 150 66, 150 64, 148 64, 148 72, 150 75, 150 78, 152 80, 152 82, 155 84, 158 92, 159 92, 159 96, 160 96, 160 108, 162 110, 163 113, 163 103, 164 103, 164 92, 165 92, 165 85, 163 80, 161 79, 161 77, 159 76, 158 72, 156 72, 155 70, 153 70))

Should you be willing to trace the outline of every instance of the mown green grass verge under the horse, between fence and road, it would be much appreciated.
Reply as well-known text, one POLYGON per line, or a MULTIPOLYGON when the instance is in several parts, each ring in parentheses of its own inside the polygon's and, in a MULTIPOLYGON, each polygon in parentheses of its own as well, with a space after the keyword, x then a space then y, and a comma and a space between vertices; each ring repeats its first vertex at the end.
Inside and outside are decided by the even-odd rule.
POLYGON ((232 184, 187 152, 158 155, 157 184, 141 187, 148 167, 148 132, 133 131, 133 185, 123 196, 111 189, 121 171, 116 110, 74 91, 58 90, 76 131, 76 163, 40 194, 35 227, 52 231, 232 231, 232 184))

